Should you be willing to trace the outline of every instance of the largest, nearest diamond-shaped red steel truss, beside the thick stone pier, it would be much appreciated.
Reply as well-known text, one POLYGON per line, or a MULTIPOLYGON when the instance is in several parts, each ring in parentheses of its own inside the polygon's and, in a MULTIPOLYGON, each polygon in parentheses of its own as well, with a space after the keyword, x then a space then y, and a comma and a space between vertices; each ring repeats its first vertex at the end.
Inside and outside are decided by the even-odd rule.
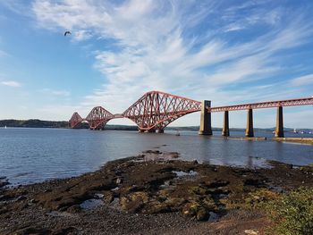
POLYGON ((183 115, 201 110, 201 102, 160 91, 150 91, 140 97, 123 117, 136 122, 140 130, 159 130, 183 115))

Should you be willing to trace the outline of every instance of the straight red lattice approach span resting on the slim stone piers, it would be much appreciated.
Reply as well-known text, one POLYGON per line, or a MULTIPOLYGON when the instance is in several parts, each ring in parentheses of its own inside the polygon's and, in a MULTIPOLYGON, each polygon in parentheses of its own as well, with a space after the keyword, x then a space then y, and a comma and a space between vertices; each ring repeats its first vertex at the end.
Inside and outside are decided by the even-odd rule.
POLYGON ((236 110, 244 110, 244 109, 273 108, 273 107, 279 107, 279 106, 297 106, 297 105, 313 105, 313 97, 268 101, 268 102, 260 102, 260 103, 253 103, 253 104, 244 104, 244 105, 212 107, 210 108, 210 111, 213 113, 213 112, 236 111, 236 110))

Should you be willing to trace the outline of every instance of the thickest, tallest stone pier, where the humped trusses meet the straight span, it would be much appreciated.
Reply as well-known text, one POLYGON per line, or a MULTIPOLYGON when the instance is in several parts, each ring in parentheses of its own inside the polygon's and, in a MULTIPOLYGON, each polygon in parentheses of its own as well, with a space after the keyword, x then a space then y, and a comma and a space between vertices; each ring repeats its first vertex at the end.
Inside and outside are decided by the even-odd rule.
POLYGON ((211 101, 210 100, 204 100, 202 102, 199 135, 207 135, 207 136, 212 135, 210 107, 211 107, 211 101))

